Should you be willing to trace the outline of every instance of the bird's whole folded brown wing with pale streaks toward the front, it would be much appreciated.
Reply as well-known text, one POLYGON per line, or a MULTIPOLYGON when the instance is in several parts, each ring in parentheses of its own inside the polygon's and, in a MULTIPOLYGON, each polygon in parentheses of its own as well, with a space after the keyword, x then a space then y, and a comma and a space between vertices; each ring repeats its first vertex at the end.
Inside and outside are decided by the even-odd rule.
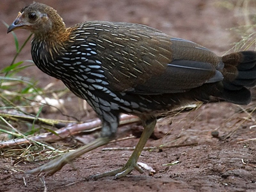
POLYGON ((93 43, 99 54, 94 57, 101 61, 104 75, 110 82, 108 86, 113 91, 184 92, 223 78, 216 70, 221 68, 220 58, 193 42, 138 24, 94 22, 87 25, 94 37, 90 39, 88 35, 87 41, 96 39, 93 43), (101 25, 100 32, 98 25, 101 25))

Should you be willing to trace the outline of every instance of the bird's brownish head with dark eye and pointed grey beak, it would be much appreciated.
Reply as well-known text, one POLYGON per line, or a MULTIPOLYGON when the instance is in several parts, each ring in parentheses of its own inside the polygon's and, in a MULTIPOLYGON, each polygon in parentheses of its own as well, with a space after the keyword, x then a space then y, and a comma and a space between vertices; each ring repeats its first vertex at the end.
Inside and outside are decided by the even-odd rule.
POLYGON ((27 29, 35 35, 47 35, 65 30, 65 23, 52 7, 33 3, 18 13, 17 18, 9 26, 7 33, 19 29, 27 29))

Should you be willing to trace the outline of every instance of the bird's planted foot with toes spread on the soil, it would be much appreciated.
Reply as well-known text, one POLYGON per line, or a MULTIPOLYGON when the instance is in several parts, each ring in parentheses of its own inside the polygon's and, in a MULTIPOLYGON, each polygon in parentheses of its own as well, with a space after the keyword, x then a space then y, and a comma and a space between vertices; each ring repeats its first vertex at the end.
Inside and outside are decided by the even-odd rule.
POLYGON ((139 167, 139 165, 137 163, 132 164, 132 163, 129 163, 129 161, 128 161, 124 165, 124 167, 122 167, 120 169, 116 169, 116 170, 113 170, 113 171, 100 173, 100 174, 97 174, 97 175, 92 175, 88 179, 89 180, 90 179, 97 180, 97 179, 100 179, 102 177, 109 177, 109 176, 114 176, 114 179, 119 179, 121 177, 125 177, 127 174, 132 172, 133 169, 136 169, 140 173, 144 173, 144 171, 139 167))

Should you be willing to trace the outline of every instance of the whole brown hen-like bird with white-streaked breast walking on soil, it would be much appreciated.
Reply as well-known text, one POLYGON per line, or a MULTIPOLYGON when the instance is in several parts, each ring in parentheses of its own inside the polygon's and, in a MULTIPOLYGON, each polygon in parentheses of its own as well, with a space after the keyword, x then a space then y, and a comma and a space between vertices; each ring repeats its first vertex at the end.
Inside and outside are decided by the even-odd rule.
POLYGON ((7 33, 27 29, 31 55, 44 73, 60 79, 99 116, 100 137, 27 173, 53 174, 82 154, 115 139, 121 113, 138 116, 144 130, 123 167, 93 175, 98 179, 143 173, 138 158, 158 116, 190 103, 252 100, 256 52, 218 56, 192 41, 126 22, 86 21, 66 27, 51 6, 32 3, 18 13, 7 33))

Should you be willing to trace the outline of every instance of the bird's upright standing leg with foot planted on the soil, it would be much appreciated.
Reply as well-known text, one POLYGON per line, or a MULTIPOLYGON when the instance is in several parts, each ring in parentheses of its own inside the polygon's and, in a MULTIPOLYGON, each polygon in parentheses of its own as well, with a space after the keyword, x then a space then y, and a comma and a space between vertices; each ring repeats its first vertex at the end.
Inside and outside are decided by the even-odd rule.
POLYGON ((102 177, 107 176, 115 176, 115 179, 125 177, 127 174, 129 174, 133 169, 138 170, 140 173, 144 173, 144 171, 138 166, 137 161, 140 156, 141 151, 143 150, 148 138, 154 131, 155 125, 156 125, 156 118, 150 118, 149 120, 145 121, 142 119, 144 130, 141 134, 140 140, 134 149, 132 155, 124 165, 124 167, 120 169, 116 169, 113 171, 92 175, 89 177, 89 179, 99 179, 102 177))

